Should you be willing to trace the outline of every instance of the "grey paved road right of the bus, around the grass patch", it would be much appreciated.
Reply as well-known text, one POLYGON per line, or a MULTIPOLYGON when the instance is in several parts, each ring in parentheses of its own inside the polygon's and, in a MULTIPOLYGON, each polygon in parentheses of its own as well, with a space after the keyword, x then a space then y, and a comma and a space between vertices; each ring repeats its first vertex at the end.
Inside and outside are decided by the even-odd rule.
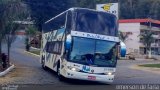
POLYGON ((145 63, 160 63, 160 61, 119 61, 117 65, 114 84, 160 84, 160 69, 150 72, 130 68, 137 64, 145 63))

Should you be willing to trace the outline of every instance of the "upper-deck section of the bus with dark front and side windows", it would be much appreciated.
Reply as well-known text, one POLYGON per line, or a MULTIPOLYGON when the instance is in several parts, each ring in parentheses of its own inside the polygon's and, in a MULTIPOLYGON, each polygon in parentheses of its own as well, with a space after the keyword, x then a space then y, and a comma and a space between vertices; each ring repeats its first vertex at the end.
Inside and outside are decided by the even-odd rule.
POLYGON ((117 36, 118 25, 115 15, 87 8, 70 8, 49 19, 43 25, 43 32, 65 27, 67 32, 80 31, 117 36))

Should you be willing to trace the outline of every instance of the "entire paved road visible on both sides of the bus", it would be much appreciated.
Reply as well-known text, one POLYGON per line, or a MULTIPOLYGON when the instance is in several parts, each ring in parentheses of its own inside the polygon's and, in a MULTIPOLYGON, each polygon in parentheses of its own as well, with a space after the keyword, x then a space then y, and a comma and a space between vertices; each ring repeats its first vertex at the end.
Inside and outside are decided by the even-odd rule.
MULTIPOLYGON (((54 84, 54 85, 95 85, 99 83, 69 80, 60 82, 53 71, 44 71, 39 63, 39 57, 24 52, 24 39, 17 39, 11 49, 12 63, 16 68, 4 77, 0 84, 54 84)), ((3 48, 6 51, 5 47, 3 48)), ((159 61, 118 61, 117 72, 113 84, 160 84, 160 74, 129 68, 142 63, 157 63, 159 61)), ((160 63, 160 62, 159 62, 160 63)))

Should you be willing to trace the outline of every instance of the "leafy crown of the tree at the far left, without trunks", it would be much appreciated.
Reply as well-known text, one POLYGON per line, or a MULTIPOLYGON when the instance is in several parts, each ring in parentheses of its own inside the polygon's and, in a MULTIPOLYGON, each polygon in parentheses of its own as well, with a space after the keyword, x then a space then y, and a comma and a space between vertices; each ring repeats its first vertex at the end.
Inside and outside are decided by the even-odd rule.
POLYGON ((6 34, 13 33, 17 25, 14 21, 19 20, 24 14, 20 0, 0 0, 0 41, 6 34), (12 29, 13 28, 13 29, 12 29))

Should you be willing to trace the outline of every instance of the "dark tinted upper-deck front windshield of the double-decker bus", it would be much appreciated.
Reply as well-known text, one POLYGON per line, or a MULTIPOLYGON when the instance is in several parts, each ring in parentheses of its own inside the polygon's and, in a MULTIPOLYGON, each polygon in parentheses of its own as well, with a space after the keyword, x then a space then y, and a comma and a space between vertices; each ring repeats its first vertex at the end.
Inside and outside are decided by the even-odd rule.
POLYGON ((77 12, 76 31, 116 36, 117 21, 113 15, 102 12, 77 12))

